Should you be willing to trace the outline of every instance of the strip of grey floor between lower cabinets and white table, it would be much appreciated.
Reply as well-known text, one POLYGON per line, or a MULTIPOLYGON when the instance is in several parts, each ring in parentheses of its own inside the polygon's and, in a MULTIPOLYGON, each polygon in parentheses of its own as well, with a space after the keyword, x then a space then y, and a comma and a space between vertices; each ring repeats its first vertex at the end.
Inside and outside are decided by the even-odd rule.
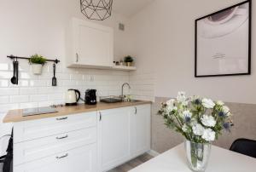
POLYGON ((131 169, 136 168, 138 165, 147 162, 151 158, 153 158, 151 155, 148 155, 148 153, 145 153, 135 159, 132 159, 128 163, 124 163, 115 169, 109 170, 108 172, 127 172, 131 169))

